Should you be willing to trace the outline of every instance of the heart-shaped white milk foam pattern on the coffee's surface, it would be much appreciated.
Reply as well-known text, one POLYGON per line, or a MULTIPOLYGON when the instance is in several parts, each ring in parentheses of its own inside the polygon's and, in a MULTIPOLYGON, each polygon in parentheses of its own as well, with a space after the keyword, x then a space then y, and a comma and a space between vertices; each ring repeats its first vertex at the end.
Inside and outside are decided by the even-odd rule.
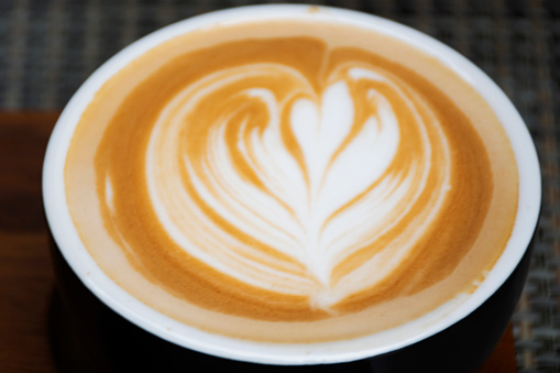
POLYGON ((308 296, 314 306, 325 309, 382 282, 406 260, 442 206, 450 173, 449 145, 440 131, 437 146, 448 157, 438 172, 443 169, 444 176, 433 189, 439 197, 425 209, 414 233, 405 230, 405 244, 396 244, 400 242, 396 237, 367 261, 334 278, 333 271, 344 259, 397 227, 415 205, 432 172, 432 143, 426 127, 437 128, 438 123, 433 117, 426 123, 418 112, 419 106, 429 110, 426 103, 407 95, 382 72, 345 67, 328 80, 316 94, 296 70, 272 64, 229 68, 206 77, 165 106, 150 136, 145 172, 157 218, 189 255, 252 286, 308 296), (271 75, 292 81, 288 97, 253 84, 255 77, 271 75), (359 99, 367 102, 360 108, 366 111, 361 122, 354 113, 360 105, 354 97, 356 83, 372 86, 359 92, 366 96, 359 99), (393 97, 375 85, 388 89, 393 97), (211 117, 212 122, 197 123, 197 110, 213 92, 230 86, 235 87, 233 96, 261 108, 267 119, 249 128, 252 113, 234 122, 239 108, 233 107, 211 117), (410 111, 414 123, 399 122, 402 114, 392 102, 395 99, 410 111), (288 118, 287 123, 283 118, 288 118), (204 143, 199 156, 193 156, 182 142, 184 127, 189 125, 210 129, 206 138, 197 139, 204 143), (292 131, 303 162, 287 147, 283 125, 292 131), (403 152, 403 125, 413 125, 421 134, 421 153, 406 167, 391 168, 403 152), (232 129, 237 131, 233 150, 227 139, 232 129), (239 161, 231 152, 257 182, 239 172, 239 161), (196 198, 272 252, 257 251, 251 242, 216 224, 196 198), (305 271, 282 257, 300 263, 305 271))

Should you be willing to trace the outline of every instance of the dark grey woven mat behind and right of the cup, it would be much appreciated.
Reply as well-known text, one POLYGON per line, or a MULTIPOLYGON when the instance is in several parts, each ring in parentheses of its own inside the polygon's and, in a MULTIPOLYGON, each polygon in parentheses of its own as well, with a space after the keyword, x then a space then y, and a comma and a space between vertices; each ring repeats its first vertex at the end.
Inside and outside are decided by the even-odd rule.
MULTIPOLYGON (((0 0, 0 110, 62 109, 130 42, 190 15, 257 1, 0 0)), ((537 143, 545 204, 514 315, 519 371, 560 371, 560 1, 310 1, 385 17, 442 41, 510 97, 537 143)))

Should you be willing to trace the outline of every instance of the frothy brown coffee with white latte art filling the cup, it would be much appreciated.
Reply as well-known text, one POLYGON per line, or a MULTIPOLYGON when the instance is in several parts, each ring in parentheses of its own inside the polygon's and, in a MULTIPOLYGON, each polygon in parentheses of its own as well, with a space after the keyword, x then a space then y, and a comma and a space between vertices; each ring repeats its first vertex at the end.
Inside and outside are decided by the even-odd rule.
POLYGON ((465 79, 309 19, 173 37, 92 97, 65 186, 131 296, 264 342, 336 341, 472 293, 512 234, 515 156, 465 79))

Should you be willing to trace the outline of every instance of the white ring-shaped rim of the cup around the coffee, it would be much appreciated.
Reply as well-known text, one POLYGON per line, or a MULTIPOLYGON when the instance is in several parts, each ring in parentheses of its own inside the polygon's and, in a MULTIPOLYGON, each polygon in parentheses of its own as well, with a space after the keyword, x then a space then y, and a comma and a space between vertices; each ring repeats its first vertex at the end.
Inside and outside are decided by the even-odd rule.
MULTIPOLYGON (((488 299, 514 272, 529 246, 541 204, 540 167, 530 133, 507 96, 485 73, 443 43, 406 25, 353 10, 306 4, 260 4, 212 11, 160 29, 117 53, 91 74, 64 108, 48 141, 42 182, 46 220, 57 246, 78 278, 111 309, 140 328, 195 351, 233 360, 281 365, 338 363, 380 355, 421 341, 463 319, 488 299), (64 186, 66 152, 74 129, 96 91, 128 63, 164 41, 198 28, 254 20, 256 15, 266 19, 315 17, 388 33, 449 66, 484 97, 502 123, 505 123, 519 172, 519 205, 512 238, 481 286, 460 307, 450 308, 444 305, 428 314, 440 320, 430 322, 429 328, 418 329, 424 331, 410 334, 400 330, 395 334, 395 329, 402 328, 399 327, 387 331, 395 334, 393 339, 385 331, 377 333, 377 338, 388 337, 391 342, 385 344, 372 342, 371 336, 351 341, 303 345, 256 343, 208 334, 168 319, 116 285, 94 262, 73 227, 66 208, 64 186), (403 334, 406 338, 400 339, 399 336, 403 334)), ((414 322, 422 325, 427 322, 427 318, 422 317, 414 322)))

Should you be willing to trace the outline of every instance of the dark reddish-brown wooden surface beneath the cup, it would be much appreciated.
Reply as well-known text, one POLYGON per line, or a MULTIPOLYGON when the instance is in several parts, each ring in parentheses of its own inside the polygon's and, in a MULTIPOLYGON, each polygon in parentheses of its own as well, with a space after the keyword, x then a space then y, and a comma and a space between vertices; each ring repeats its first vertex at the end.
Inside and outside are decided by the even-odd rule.
MULTIPOLYGON (((57 372, 41 168, 58 112, 0 112, 0 372, 57 372)), ((515 373, 512 328, 481 373, 515 373)))

